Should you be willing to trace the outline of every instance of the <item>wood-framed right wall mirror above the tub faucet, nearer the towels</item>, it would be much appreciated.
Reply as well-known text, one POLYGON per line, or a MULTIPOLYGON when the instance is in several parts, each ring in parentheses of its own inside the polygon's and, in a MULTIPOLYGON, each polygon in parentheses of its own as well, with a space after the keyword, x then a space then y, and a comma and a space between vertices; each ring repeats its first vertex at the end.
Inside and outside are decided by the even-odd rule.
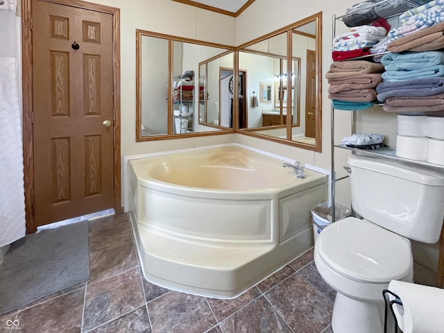
POLYGON ((257 108, 248 103, 240 133, 321 151, 321 20, 319 12, 239 47, 247 96, 257 87, 261 92, 257 108), (273 82, 271 103, 262 100, 267 82, 273 82))

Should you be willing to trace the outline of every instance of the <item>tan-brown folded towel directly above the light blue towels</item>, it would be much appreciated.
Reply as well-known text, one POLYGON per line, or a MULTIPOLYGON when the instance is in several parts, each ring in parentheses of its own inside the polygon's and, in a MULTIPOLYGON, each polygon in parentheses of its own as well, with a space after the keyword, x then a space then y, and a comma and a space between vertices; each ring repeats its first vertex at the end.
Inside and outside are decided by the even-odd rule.
POLYGON ((434 51, 444 48, 444 22, 416 31, 387 45, 391 52, 434 51))

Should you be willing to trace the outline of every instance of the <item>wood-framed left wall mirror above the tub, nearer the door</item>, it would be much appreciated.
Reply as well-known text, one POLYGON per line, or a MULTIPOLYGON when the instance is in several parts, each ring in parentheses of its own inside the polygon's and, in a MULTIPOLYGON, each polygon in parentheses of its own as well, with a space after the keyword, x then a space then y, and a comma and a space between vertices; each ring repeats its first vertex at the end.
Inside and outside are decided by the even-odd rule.
POLYGON ((220 71, 234 48, 141 30, 136 46, 137 141, 231 130, 220 71))

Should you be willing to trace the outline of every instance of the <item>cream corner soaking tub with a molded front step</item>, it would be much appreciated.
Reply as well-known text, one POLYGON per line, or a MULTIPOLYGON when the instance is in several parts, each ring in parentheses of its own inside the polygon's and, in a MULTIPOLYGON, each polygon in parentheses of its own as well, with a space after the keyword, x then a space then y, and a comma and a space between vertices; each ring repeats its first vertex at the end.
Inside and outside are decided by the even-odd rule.
POLYGON ((146 280, 233 298, 313 246, 327 176, 229 146, 129 162, 129 210, 146 280))

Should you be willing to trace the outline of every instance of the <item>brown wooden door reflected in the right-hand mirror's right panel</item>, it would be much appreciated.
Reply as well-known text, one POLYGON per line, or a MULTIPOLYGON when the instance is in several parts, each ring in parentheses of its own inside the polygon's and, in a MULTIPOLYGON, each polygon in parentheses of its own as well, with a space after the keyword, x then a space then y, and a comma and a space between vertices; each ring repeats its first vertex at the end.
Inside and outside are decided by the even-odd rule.
POLYGON ((316 51, 307 50, 307 90, 305 93, 305 136, 316 137, 316 51))

